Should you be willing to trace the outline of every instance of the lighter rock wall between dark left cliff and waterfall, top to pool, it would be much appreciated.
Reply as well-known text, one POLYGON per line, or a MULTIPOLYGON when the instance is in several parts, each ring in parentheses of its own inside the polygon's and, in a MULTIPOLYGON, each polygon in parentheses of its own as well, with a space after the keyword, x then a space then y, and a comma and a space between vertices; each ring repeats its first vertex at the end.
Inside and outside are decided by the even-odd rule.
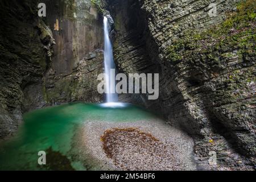
POLYGON ((44 77, 46 104, 102 101, 97 92, 97 75, 104 71, 102 15, 89 0, 46 1, 46 6, 56 42, 44 77))

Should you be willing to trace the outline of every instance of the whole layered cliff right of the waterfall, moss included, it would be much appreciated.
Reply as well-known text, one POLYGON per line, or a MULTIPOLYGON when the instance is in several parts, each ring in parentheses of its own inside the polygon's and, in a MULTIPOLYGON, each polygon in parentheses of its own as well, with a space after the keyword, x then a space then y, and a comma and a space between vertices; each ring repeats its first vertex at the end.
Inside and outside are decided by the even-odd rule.
POLYGON ((193 135, 202 168, 255 165, 255 2, 238 2, 109 1, 119 70, 161 75, 157 102, 121 98, 193 135))

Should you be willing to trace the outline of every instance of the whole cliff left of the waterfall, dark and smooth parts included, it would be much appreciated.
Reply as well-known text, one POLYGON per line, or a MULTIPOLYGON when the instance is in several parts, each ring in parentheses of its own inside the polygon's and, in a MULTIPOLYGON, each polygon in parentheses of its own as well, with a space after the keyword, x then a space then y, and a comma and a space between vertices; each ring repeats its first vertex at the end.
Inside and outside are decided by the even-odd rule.
POLYGON ((103 71, 102 20, 87 1, 2 1, 0 138, 14 133, 22 113, 71 101, 98 102, 103 71))

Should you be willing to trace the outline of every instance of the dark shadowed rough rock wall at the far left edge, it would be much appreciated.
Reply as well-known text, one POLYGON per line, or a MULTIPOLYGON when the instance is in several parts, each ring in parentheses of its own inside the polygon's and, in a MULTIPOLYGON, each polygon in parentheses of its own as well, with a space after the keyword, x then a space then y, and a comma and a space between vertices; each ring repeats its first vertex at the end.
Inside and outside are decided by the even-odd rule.
MULTIPOLYGON (((42 43, 49 32, 35 19, 36 2, 1 1, 0 138, 22 122, 23 89, 42 82, 47 67, 42 43)), ((50 43, 50 39, 48 41, 50 43)))

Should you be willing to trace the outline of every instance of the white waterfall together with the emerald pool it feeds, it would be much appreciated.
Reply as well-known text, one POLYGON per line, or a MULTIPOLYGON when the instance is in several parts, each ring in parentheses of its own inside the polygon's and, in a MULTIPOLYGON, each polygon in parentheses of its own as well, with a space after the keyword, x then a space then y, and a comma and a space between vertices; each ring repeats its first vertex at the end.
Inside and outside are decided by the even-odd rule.
MULTIPOLYGON (((23 123, 14 137, 0 140, 0 171, 13 170, 90 170, 90 162, 83 163, 74 137, 88 122, 136 122, 155 118, 154 114, 131 104, 118 102, 111 69, 115 69, 113 48, 109 38, 108 18, 104 17, 106 103, 71 103, 47 107, 25 113, 23 123), (38 152, 46 151, 47 164, 38 164, 38 152), (78 155, 79 154, 79 155, 78 155)), ((100 134, 99 134, 100 135, 100 134)))

